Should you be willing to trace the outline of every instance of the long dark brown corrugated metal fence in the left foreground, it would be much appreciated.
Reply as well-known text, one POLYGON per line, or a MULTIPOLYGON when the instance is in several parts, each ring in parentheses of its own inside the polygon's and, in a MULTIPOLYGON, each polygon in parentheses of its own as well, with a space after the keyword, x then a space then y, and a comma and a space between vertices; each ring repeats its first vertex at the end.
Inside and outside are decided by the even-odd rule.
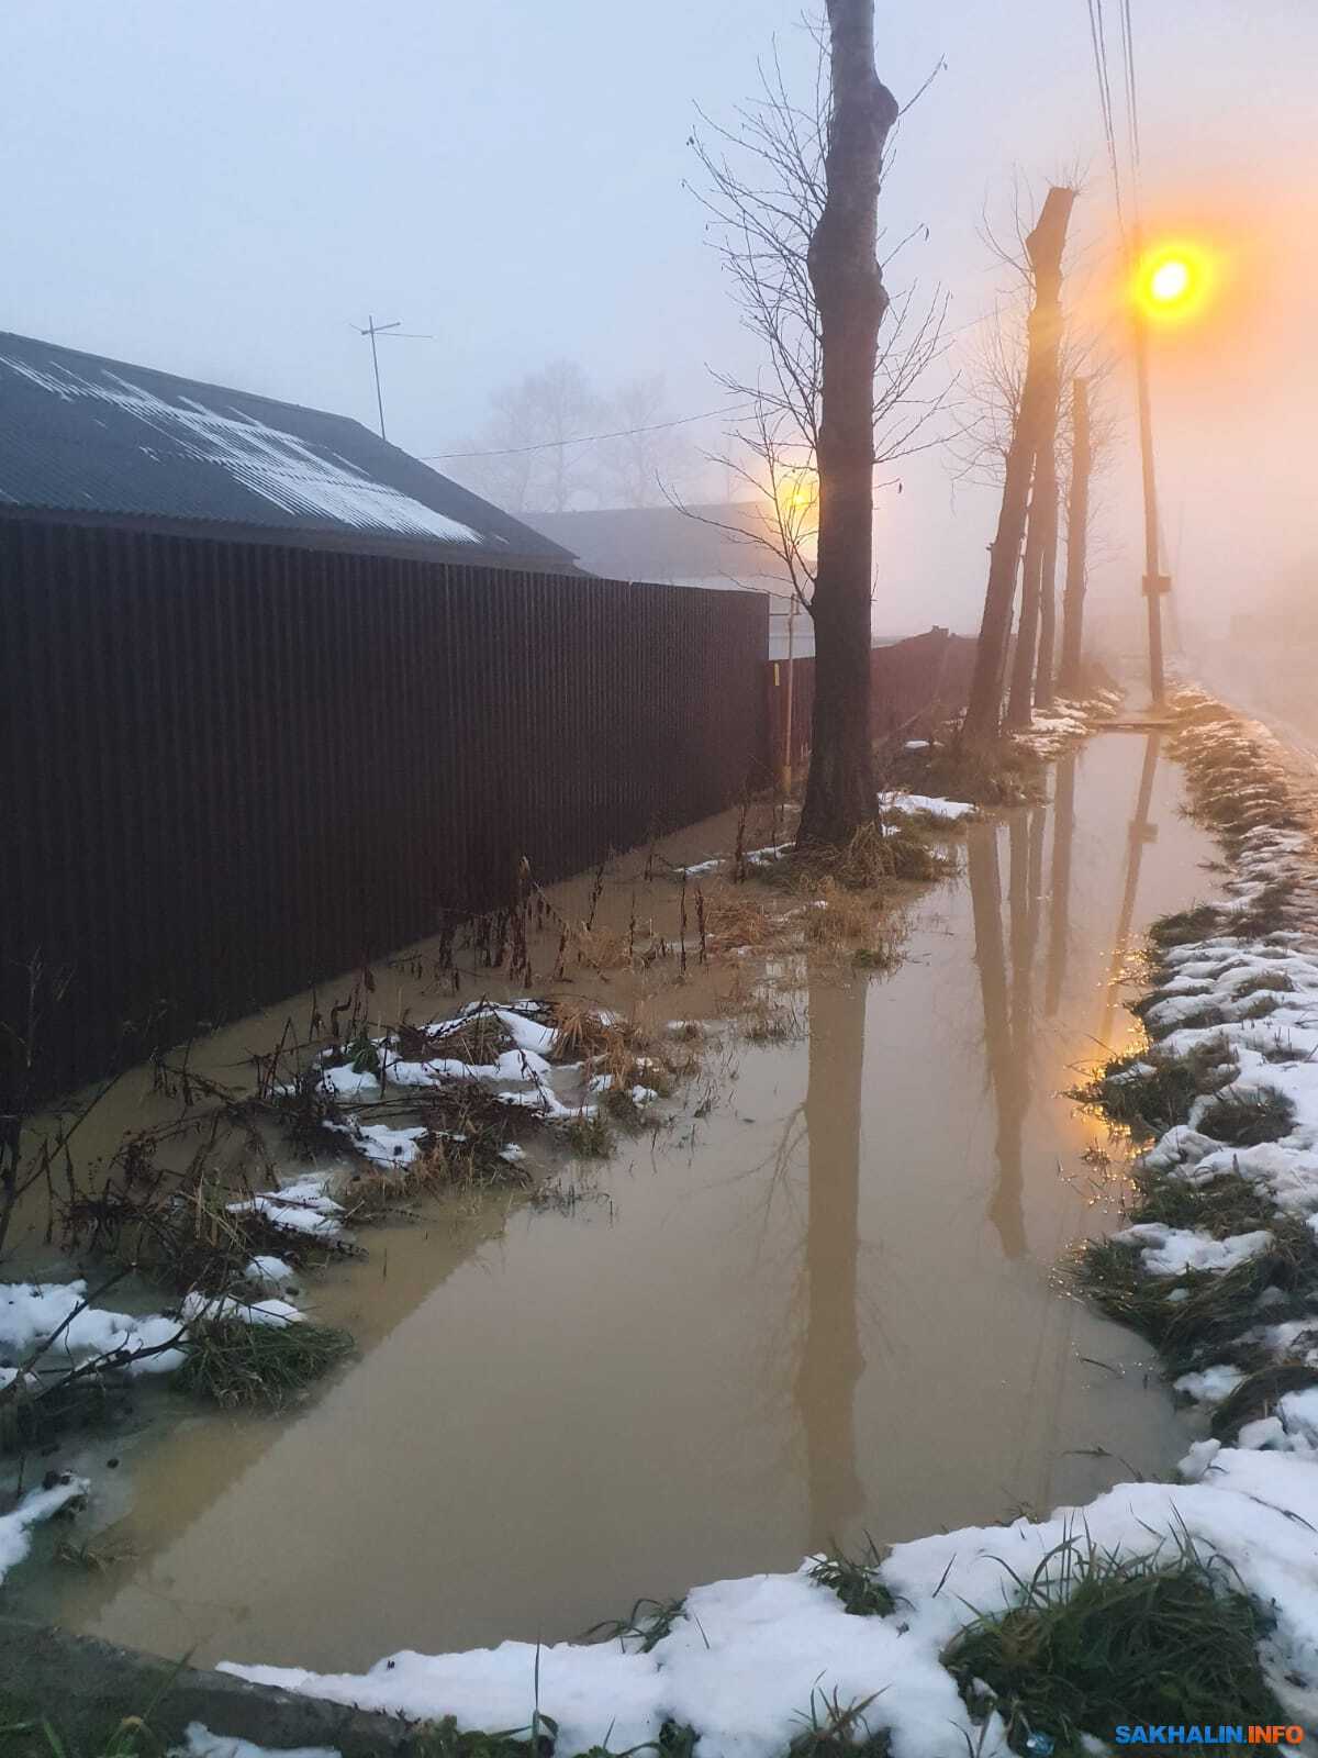
MULTIPOLYGON (((735 800, 747 592, 0 522, 0 1021, 44 1086, 735 800), (151 1018, 149 1032, 142 1027, 151 1018)), ((0 1057, 0 1064, 4 1058, 0 1057)))

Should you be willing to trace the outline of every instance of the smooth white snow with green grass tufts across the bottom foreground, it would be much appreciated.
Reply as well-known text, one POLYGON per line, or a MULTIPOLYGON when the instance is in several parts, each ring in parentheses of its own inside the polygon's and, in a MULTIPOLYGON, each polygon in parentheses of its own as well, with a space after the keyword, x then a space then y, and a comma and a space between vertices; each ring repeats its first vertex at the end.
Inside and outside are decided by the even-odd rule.
POLYGON ((557 1758, 786 1758, 821 1740, 1003 1758, 1046 1749, 1026 1746, 1037 1733, 1079 1754, 1119 1723, 1313 1723, 1318 1471, 1216 1440, 1183 1471, 1047 1521, 898 1544, 836 1577, 812 1558, 692 1587, 603 1642, 404 1651, 364 1674, 223 1670, 459 1730, 525 1740, 534 1725, 557 1758))

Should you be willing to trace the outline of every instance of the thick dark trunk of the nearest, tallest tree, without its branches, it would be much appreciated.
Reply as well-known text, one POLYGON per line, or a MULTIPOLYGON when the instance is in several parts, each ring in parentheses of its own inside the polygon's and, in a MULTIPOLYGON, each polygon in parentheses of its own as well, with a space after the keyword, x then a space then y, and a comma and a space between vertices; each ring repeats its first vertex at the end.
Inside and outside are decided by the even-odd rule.
POLYGON ((879 271, 879 183, 896 121, 873 65, 873 0, 828 0, 833 111, 824 209, 808 271, 821 336, 819 540, 810 612, 815 700, 801 844, 844 844, 873 816, 870 575, 873 378, 887 292, 879 271))

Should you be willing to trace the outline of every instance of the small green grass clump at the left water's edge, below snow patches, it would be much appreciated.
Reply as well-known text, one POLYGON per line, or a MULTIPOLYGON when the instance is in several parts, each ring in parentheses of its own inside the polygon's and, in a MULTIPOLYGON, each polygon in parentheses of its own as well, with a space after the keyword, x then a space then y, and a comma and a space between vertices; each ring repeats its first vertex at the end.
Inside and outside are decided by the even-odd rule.
POLYGON ((351 1352, 346 1331, 308 1320, 248 1324, 206 1318, 192 1326, 177 1382, 218 1405, 281 1410, 351 1352))

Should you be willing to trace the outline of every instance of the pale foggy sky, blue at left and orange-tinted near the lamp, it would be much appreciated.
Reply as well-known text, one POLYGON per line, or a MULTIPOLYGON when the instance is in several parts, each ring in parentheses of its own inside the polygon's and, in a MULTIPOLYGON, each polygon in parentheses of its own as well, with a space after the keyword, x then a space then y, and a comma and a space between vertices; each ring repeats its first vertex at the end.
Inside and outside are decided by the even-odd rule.
MULTIPOLYGON (((1177 598, 1213 624, 1318 557, 1318 5, 1133 11, 1149 232, 1230 244, 1221 311, 1155 359, 1177 598)), ((708 366, 754 371, 754 352, 682 186, 687 137, 696 104, 728 118, 752 95, 775 33, 808 77, 798 21, 796 0, 5 0, 0 329, 373 424, 350 322, 402 318, 436 338, 381 343, 390 438, 420 455, 460 447, 494 389, 561 355, 601 390, 663 371, 673 413, 717 408, 708 366)), ((928 223, 889 278, 940 283, 965 334, 1002 285, 977 229, 1014 167, 1040 192, 1086 167, 1091 262, 1111 255, 1112 200, 1084 0, 880 0, 898 98, 940 56, 882 223, 928 223)), ((1128 371, 1116 394, 1128 450, 1128 371)), ((875 628, 974 631, 993 494, 954 485, 942 452, 893 475, 875 628)), ((1102 505, 1095 596, 1137 608, 1128 461, 1102 505)))

